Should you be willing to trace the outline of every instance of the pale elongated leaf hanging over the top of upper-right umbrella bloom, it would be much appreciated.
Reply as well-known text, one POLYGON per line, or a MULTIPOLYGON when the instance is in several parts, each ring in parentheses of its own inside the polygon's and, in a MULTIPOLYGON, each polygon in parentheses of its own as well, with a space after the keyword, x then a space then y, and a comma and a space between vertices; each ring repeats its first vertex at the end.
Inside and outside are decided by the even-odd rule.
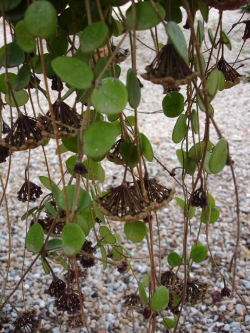
POLYGON ((168 38, 171 44, 173 45, 175 51, 188 65, 189 58, 188 58, 187 43, 181 28, 177 25, 177 23, 170 21, 166 24, 165 29, 168 38))

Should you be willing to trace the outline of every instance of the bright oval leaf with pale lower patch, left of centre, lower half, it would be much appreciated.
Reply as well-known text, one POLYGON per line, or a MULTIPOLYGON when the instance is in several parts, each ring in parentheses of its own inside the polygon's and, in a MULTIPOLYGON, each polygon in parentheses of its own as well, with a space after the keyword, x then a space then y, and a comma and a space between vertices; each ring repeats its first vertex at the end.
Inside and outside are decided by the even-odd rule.
POLYGON ((75 223, 69 223, 63 227, 62 231, 62 250, 63 253, 72 257, 82 248, 85 235, 82 229, 75 223))

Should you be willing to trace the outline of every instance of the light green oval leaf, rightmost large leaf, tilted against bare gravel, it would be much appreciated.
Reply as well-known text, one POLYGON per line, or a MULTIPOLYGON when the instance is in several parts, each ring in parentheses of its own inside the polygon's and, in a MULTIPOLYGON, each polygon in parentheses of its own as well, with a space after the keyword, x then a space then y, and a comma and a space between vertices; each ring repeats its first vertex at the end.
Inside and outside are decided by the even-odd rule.
POLYGON ((224 138, 221 138, 216 146, 213 148, 210 160, 209 169, 211 173, 219 173, 226 164, 227 161, 227 142, 224 138))

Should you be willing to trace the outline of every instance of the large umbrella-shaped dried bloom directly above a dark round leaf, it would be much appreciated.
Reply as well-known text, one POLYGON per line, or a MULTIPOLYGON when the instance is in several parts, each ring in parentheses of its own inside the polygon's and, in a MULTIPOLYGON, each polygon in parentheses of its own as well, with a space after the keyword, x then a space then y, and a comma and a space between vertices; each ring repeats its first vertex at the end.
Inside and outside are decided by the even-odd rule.
POLYGON ((141 74, 141 77, 152 83, 162 84, 164 88, 177 88, 188 84, 199 75, 197 72, 192 72, 170 43, 159 51, 153 62, 145 69, 147 73, 141 74))

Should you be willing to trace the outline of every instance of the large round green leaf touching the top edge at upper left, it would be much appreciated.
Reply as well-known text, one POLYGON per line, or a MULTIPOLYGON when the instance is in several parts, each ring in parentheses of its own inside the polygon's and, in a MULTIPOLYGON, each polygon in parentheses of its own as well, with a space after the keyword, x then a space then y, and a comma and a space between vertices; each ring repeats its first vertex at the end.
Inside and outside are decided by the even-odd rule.
POLYGON ((57 29, 57 11, 48 1, 36 1, 27 8, 24 23, 32 36, 49 38, 57 29))

